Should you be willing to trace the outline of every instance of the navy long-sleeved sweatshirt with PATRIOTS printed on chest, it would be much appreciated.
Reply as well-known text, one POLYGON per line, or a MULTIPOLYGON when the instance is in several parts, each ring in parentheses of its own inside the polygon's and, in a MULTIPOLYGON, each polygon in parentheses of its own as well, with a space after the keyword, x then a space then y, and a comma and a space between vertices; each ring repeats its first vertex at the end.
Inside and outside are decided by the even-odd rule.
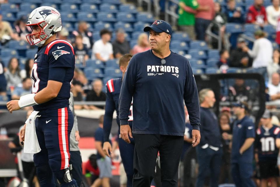
POLYGON ((192 129, 199 130, 199 101, 187 58, 171 51, 161 58, 152 50, 134 55, 127 67, 119 98, 120 125, 128 124, 133 97, 134 134, 184 136, 184 100, 192 129))

